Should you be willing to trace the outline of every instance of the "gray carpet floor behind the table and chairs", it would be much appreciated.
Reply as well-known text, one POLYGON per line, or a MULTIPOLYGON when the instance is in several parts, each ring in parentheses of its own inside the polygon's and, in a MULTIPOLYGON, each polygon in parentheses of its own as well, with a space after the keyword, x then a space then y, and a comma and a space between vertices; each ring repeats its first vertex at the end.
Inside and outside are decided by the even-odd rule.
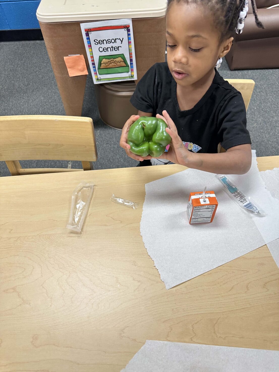
MULTIPOLYGON (((44 41, 0 43, 0 115, 65 115, 44 41)), ((279 69, 230 71, 223 61, 224 78, 253 79, 256 86, 247 111, 247 128, 258 156, 279 155, 279 69)), ((87 77, 83 116, 93 119, 98 160, 94 169, 133 167, 137 162, 119 147, 121 131, 99 117, 91 74, 87 77)), ((21 161, 22 167, 81 168, 77 161, 21 161)), ((0 162, 0 175, 10 173, 0 162)))

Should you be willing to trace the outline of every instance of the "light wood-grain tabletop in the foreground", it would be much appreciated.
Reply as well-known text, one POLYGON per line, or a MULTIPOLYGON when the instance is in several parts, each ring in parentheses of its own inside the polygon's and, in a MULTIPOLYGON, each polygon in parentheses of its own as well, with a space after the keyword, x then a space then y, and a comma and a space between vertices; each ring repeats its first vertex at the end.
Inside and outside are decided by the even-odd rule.
MULTIPOLYGON (((272 169, 279 156, 258 163, 272 169)), ((0 178, 0 372, 119 372, 147 339, 279 350, 266 246, 175 288, 161 282, 140 236, 144 184, 183 169, 0 178), (78 237, 65 226, 80 180, 96 188, 78 237)))

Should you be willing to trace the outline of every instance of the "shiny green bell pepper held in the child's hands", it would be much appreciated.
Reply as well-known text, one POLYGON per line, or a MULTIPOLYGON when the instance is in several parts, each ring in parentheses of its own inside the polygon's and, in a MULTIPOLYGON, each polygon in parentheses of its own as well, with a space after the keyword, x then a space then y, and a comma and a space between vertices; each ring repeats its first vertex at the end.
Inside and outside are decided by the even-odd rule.
POLYGON ((130 126, 128 144, 136 155, 158 157, 165 151, 171 137, 163 119, 142 116, 130 126))

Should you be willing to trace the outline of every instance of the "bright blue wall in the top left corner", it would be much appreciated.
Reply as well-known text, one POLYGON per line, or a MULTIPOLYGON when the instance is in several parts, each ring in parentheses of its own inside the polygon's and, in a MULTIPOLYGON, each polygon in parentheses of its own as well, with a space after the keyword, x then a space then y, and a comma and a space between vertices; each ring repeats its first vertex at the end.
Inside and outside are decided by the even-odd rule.
POLYGON ((0 30, 40 28, 36 11, 40 0, 0 0, 0 30))

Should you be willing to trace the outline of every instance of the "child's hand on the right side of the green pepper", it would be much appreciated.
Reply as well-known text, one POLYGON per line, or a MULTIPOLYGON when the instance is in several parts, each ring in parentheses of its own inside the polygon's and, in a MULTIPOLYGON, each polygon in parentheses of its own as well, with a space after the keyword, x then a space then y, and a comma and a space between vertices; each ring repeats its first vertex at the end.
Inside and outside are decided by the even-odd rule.
POLYGON ((156 118, 163 119, 166 122, 167 126, 169 127, 169 128, 166 128, 166 132, 171 137, 169 150, 163 153, 158 158, 167 159, 175 164, 186 165, 187 160, 189 159, 190 153, 185 148, 181 138, 179 137, 176 126, 174 122, 172 121, 172 119, 170 118, 170 115, 167 113, 166 110, 164 110, 163 116, 157 114, 156 118))

